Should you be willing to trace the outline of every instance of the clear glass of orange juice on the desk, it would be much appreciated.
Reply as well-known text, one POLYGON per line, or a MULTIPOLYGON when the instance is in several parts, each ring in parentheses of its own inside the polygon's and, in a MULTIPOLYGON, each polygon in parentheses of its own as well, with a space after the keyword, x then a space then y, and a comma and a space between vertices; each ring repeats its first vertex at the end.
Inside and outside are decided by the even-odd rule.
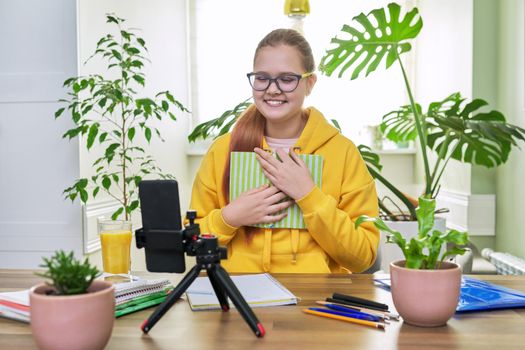
POLYGON ((105 274, 131 277, 131 221, 99 220, 98 233, 102 245, 105 274))

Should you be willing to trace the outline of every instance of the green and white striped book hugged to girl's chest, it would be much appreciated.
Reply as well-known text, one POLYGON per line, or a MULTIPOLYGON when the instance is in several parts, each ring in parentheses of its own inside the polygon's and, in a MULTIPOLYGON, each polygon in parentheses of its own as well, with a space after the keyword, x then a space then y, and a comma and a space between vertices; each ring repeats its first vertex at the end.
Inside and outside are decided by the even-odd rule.
MULTIPOLYGON (((276 156, 276 154, 273 154, 276 156)), ((323 157, 315 154, 298 155, 308 166, 314 183, 320 188, 323 177, 323 157)), ((239 197, 241 193, 270 183, 264 176, 261 165, 255 158, 254 152, 232 152, 230 158, 230 201, 239 197)), ((274 224, 257 224, 255 227, 264 228, 306 228, 303 214, 297 204, 286 209, 287 215, 274 224)))

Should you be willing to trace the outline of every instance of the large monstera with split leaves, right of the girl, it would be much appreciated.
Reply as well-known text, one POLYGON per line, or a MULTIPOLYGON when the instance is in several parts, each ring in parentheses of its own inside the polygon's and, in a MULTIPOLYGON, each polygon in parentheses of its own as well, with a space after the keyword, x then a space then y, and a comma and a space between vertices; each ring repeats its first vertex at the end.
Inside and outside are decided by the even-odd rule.
MULTIPOLYGON (((483 111, 487 102, 467 101, 458 92, 442 101, 432 102, 426 109, 416 103, 402 56, 408 53, 423 27, 418 9, 401 14, 401 7, 390 3, 386 8, 361 13, 351 24, 343 25, 342 37, 331 39, 331 47, 321 59, 319 70, 327 76, 357 79, 376 71, 382 63, 388 69, 398 66, 410 103, 383 116, 383 134, 394 142, 416 140, 423 159, 425 199, 435 199, 450 159, 495 167, 505 163, 513 146, 525 140, 525 129, 508 124, 498 111, 483 111), (436 161, 431 164, 429 152, 436 161)), ((369 164, 369 170, 371 169, 369 164)), ((373 170, 373 167, 372 167, 373 170)), ((406 218, 416 219, 416 206, 407 195, 376 171, 372 175, 401 200, 407 208, 406 218)), ((390 216, 396 220, 398 216, 390 216)))

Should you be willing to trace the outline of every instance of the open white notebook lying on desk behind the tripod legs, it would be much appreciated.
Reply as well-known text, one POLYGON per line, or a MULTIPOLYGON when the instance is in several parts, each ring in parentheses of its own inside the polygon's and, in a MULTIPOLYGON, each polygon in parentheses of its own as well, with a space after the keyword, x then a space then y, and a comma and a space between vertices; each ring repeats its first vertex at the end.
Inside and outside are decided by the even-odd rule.
MULTIPOLYGON (((251 307, 291 305, 299 300, 268 273, 232 276, 231 279, 251 307)), ((208 277, 198 277, 186 296, 193 311, 220 309, 208 277)), ((230 307, 235 307, 231 299, 228 302, 230 307)))

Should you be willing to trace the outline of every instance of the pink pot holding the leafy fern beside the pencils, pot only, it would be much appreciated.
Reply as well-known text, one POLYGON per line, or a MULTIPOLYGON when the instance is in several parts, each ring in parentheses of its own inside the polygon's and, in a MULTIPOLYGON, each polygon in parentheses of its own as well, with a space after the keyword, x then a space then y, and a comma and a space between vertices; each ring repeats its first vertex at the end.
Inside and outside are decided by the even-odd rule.
POLYGON ((390 264, 394 305, 403 320, 414 326, 444 326, 456 312, 461 287, 459 265, 443 262, 439 270, 405 268, 405 261, 390 264))

